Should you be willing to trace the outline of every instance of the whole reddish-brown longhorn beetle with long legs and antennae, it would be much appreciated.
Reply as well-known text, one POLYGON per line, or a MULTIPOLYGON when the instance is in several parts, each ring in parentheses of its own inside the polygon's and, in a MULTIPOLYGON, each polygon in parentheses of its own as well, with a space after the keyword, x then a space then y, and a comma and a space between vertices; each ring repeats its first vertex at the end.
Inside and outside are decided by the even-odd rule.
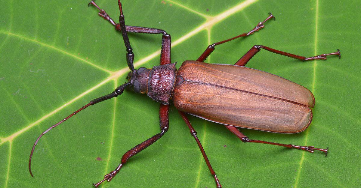
POLYGON ((155 143, 168 131, 168 110, 171 100, 186 122, 191 135, 196 140, 218 188, 222 187, 221 183, 206 156, 202 144, 197 138, 197 132, 193 129, 186 114, 222 124, 238 136, 242 142, 296 148, 310 153, 318 150, 325 152, 327 156, 328 148, 322 149, 315 148, 314 146, 297 146, 253 140, 241 133, 237 127, 274 133, 299 133, 305 130, 312 121, 311 108, 314 107, 315 99, 311 91, 282 77, 245 67, 245 64, 261 49, 301 61, 325 60, 329 55, 338 55, 341 58, 340 50, 334 53, 306 58, 267 46, 255 45, 234 65, 204 63, 205 59, 214 51, 215 46, 239 37, 247 37, 264 28, 265 22, 275 19, 273 14, 269 13, 269 16, 264 21, 259 22, 251 31, 209 45, 196 61, 184 61, 177 70, 175 63, 171 63, 171 36, 167 32, 156 28, 126 25, 120 0, 118 0, 119 23, 114 22, 105 10, 99 8, 94 1, 91 1, 88 5, 95 6, 100 11, 98 13, 99 16, 109 21, 117 31, 122 33, 126 47, 127 65, 130 69, 127 76, 128 81, 116 88, 112 93, 91 100, 88 104, 40 134, 32 147, 29 157, 29 172, 31 176, 33 176, 31 171, 32 155, 36 144, 44 134, 83 109, 121 95, 126 88, 135 93, 147 94, 155 102, 160 103, 160 133, 127 151, 122 156, 121 163, 116 169, 106 174, 100 182, 93 184, 95 187, 98 187, 104 181, 110 182, 130 157, 155 143), (127 32, 162 34, 160 66, 134 68, 134 53, 132 52, 127 32))

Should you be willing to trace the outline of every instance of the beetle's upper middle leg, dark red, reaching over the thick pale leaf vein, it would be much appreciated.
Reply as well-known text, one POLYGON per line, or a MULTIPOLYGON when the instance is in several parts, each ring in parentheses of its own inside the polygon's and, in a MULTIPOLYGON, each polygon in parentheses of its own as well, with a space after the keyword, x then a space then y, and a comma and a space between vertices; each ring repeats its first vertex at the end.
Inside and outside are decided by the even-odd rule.
POLYGON ((216 43, 213 43, 213 44, 209 45, 209 46, 205 49, 205 51, 203 52, 203 54, 197 59, 197 61, 204 62, 204 60, 205 60, 206 58, 208 58, 208 56, 214 51, 214 49, 215 49, 214 47, 217 46, 217 45, 219 45, 219 44, 223 44, 223 43, 225 43, 225 42, 228 42, 228 41, 237 39, 237 38, 239 38, 239 37, 249 36, 249 35, 255 33, 256 31, 259 31, 260 29, 262 29, 262 28, 265 27, 264 23, 265 23, 266 21, 268 21, 269 19, 271 19, 271 18, 274 18, 274 19, 275 19, 275 17, 274 17, 271 13, 269 13, 269 16, 268 16, 263 22, 259 22, 259 23, 257 24, 257 26, 256 26, 255 28, 253 28, 251 31, 249 31, 249 32, 247 32, 247 33, 242 33, 242 34, 240 34, 240 35, 238 35, 238 36, 235 36, 235 37, 232 37, 232 38, 230 38, 230 39, 223 40, 223 41, 216 42, 216 43))

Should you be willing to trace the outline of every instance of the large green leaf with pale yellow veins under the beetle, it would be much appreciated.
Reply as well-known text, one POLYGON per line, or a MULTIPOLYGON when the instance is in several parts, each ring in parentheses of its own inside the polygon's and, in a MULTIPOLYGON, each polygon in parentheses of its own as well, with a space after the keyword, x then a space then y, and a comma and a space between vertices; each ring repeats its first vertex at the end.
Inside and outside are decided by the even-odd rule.
MULTIPOLYGON (((89 100, 125 82, 129 71, 119 32, 87 1, 4 0, 0 6, 0 186, 90 187, 126 151, 159 132, 158 108, 125 91, 91 106, 43 136, 42 131, 89 100)), ((117 20, 117 2, 98 0, 117 20)), ((242 143, 224 126, 189 117, 224 187, 357 187, 361 134, 358 1, 124 0, 129 25, 171 34, 172 61, 196 59, 220 40, 248 32, 272 12, 277 21, 245 39, 216 47, 208 63, 234 64, 253 45, 304 56, 340 49, 342 59, 300 62, 262 50, 248 67, 310 89, 313 122, 299 134, 242 130, 249 138, 330 147, 329 156, 242 143)), ((129 34, 135 67, 159 64, 161 35, 129 34)), ((242 112, 239 112, 242 113, 242 112)), ((132 157, 105 187, 214 187, 197 144, 174 107, 169 131, 132 157)))

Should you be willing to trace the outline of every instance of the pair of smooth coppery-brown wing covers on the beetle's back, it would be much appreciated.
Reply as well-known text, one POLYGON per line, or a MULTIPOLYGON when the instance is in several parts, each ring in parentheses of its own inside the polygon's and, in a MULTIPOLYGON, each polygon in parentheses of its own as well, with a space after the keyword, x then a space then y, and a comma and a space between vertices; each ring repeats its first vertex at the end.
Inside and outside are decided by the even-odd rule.
POLYGON ((298 133, 312 120, 313 94, 267 72, 185 61, 177 77, 174 106, 206 120, 276 133, 298 133))

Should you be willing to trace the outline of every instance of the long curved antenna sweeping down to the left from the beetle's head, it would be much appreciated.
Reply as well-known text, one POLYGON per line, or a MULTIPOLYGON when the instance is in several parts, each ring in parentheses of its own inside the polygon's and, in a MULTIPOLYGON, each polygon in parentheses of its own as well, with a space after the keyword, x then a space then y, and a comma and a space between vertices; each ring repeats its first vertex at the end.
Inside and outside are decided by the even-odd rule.
POLYGON ((36 144, 38 144, 40 138, 42 138, 42 136, 44 134, 46 134, 47 132, 49 132, 51 129, 53 129, 54 127, 60 125, 62 122, 68 120, 70 117, 74 116, 75 114, 77 114, 78 112, 82 111, 83 109, 87 108, 88 106, 91 106, 91 105, 94 105, 96 103, 99 103, 99 102, 102 102, 104 100, 108 100, 110 98, 113 98, 113 97, 117 97, 118 95, 121 95, 124 91, 124 89, 126 88, 127 85, 129 85, 130 83, 126 83, 126 84, 123 84, 121 86, 119 86, 117 89, 115 89, 113 91, 113 93, 110 93, 108 95, 104 95, 103 97, 99 97, 99 98, 96 98, 94 100, 91 100, 88 104, 86 104, 85 106, 79 108, 77 111, 71 113, 68 117, 62 119, 61 121, 57 122, 55 125, 49 127, 47 130, 45 130, 42 134, 40 134, 40 136, 38 137, 38 139, 36 139, 34 145, 32 146, 32 149, 31 149, 31 152, 30 152, 30 157, 29 157, 29 172, 30 172, 30 175, 32 177, 34 177, 32 175, 32 172, 31 172, 31 158, 32 158, 32 154, 34 153, 34 150, 35 150, 35 146, 36 144))

